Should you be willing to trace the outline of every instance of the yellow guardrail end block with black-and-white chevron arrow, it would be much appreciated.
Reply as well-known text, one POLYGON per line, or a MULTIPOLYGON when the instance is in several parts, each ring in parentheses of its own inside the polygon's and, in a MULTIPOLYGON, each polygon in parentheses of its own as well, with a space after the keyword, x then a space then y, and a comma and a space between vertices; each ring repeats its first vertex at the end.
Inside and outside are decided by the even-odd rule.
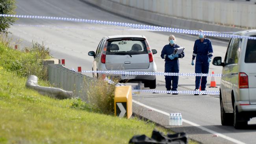
POLYGON ((115 89, 115 116, 130 118, 132 116, 132 87, 119 86, 115 89))

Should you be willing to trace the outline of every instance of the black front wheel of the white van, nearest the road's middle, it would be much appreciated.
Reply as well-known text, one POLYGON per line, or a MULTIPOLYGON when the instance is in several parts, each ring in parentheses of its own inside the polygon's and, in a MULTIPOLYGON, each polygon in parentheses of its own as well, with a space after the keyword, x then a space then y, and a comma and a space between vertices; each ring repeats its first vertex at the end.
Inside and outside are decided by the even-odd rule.
POLYGON ((221 101, 221 124, 222 126, 232 126, 233 125, 233 114, 232 113, 225 113, 224 105, 222 98, 220 97, 221 101))

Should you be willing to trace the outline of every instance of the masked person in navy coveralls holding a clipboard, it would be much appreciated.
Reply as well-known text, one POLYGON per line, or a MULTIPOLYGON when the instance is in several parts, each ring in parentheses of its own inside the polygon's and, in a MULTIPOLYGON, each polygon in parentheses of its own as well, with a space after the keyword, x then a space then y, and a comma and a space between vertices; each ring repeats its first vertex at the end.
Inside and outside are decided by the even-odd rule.
MULTIPOLYGON (((183 58, 185 56, 184 52, 182 54, 173 55, 173 51, 175 48, 179 48, 177 44, 175 44, 175 37, 174 35, 169 36, 169 44, 163 47, 161 52, 162 59, 165 59, 165 72, 179 72, 179 60, 178 58, 183 58)), ((165 87, 168 91, 177 91, 178 88, 178 76, 165 76, 165 87), (171 84, 173 82, 172 88, 171 84)), ((171 94, 167 92, 167 94, 171 94)), ((178 94, 178 93, 173 93, 178 94)))

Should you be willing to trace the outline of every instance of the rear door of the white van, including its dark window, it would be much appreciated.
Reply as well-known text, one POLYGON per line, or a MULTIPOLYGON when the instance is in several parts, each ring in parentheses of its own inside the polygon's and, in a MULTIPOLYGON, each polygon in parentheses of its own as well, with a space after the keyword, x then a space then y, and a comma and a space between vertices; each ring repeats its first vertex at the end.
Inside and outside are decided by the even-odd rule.
MULTIPOLYGON (((253 35, 252 37, 256 37, 253 35)), ((245 52, 245 65, 247 68, 249 101, 256 105, 256 40, 248 39, 245 52)))

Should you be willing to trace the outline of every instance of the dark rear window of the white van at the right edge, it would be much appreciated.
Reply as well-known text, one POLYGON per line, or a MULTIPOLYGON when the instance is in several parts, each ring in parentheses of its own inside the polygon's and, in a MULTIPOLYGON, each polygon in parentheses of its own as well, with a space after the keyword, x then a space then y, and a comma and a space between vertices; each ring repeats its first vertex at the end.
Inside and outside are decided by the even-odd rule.
MULTIPOLYGON (((256 37, 256 35, 251 37, 256 37)), ((247 41, 245 63, 256 63, 256 40, 254 39, 248 39, 247 41)))

